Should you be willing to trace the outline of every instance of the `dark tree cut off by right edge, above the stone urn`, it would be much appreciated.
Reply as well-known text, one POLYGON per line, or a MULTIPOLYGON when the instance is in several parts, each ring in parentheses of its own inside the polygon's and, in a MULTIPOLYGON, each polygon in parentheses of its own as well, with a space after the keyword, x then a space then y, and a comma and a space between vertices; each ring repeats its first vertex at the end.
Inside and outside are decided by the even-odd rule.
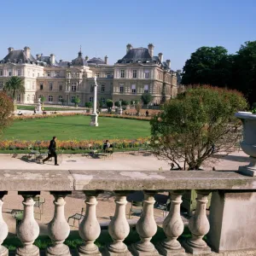
POLYGON ((233 62, 229 86, 241 90, 252 106, 256 102, 256 41, 241 45, 233 55, 233 62))

